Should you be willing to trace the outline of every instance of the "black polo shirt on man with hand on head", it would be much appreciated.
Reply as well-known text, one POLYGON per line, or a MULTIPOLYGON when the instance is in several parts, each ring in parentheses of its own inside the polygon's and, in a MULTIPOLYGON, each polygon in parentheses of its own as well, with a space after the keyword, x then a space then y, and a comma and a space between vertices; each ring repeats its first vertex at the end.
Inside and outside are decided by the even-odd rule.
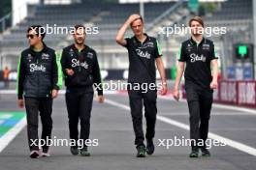
POLYGON ((155 83, 155 59, 162 56, 161 47, 155 38, 146 34, 144 42, 136 37, 126 38, 125 47, 129 54, 129 76, 131 83, 155 83))

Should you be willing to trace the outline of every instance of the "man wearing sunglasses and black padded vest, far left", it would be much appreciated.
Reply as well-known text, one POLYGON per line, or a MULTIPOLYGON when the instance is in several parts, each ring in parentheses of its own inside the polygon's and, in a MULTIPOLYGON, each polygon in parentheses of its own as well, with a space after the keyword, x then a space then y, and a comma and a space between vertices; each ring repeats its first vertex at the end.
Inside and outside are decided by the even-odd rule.
MULTIPOLYGON (((38 113, 40 112, 43 126, 41 138, 47 142, 52 129, 52 99, 57 97, 61 86, 55 52, 43 42, 44 38, 42 26, 34 25, 27 29, 30 47, 21 52, 17 68, 18 106, 23 107, 24 98, 31 158, 40 156, 38 113)), ((42 149, 42 156, 49 156, 48 146, 43 145, 42 149)))

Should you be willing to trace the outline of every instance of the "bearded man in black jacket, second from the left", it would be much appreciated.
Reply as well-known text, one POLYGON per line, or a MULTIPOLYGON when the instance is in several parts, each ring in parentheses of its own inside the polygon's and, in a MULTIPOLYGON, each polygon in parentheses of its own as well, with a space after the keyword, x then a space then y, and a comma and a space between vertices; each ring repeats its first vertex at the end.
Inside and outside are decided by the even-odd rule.
POLYGON ((62 51, 61 66, 65 77, 66 104, 69 115, 70 139, 76 141, 71 146, 72 155, 90 156, 88 152, 90 115, 93 101, 93 85, 97 87, 99 102, 104 101, 101 73, 96 52, 84 44, 85 27, 75 26, 75 43, 62 51), (80 140, 78 124, 80 120, 80 140))

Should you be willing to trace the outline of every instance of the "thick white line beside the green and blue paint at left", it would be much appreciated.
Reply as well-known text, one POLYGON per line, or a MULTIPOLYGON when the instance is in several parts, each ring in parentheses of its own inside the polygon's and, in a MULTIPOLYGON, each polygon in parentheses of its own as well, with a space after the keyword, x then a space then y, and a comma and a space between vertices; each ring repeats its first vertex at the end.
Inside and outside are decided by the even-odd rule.
POLYGON ((12 142, 16 135, 26 126, 26 117, 22 118, 15 127, 11 128, 0 138, 0 153, 12 142))

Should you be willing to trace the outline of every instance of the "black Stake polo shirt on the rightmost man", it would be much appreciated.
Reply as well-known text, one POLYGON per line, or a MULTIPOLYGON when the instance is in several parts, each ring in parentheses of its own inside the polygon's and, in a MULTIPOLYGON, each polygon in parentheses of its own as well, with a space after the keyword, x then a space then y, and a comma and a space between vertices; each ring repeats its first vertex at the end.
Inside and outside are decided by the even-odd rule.
POLYGON ((185 83, 210 89, 209 84, 212 80, 210 61, 218 59, 213 42, 203 38, 202 42, 197 44, 191 38, 182 42, 178 54, 178 61, 186 63, 185 83))

